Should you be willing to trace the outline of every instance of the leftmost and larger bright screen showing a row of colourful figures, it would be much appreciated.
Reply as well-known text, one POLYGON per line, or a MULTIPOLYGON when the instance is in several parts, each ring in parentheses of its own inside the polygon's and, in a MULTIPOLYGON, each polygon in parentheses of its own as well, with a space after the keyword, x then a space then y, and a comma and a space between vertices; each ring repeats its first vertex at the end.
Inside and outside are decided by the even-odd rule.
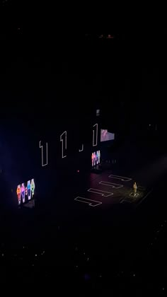
POLYGON ((28 180, 28 182, 23 182, 21 185, 18 185, 17 190, 18 205, 28 202, 34 197, 35 193, 35 182, 34 179, 28 180))

